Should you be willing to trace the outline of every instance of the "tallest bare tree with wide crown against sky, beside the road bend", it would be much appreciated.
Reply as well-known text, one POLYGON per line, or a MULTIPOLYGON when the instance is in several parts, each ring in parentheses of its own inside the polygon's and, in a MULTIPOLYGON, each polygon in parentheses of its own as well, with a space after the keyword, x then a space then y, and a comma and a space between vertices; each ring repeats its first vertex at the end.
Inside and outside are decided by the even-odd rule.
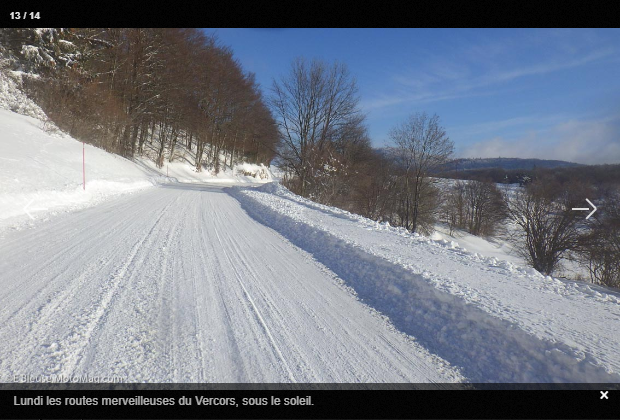
POLYGON ((278 156, 296 175, 296 192, 324 192, 317 181, 342 163, 336 143, 356 137, 363 125, 358 103, 355 80, 344 64, 298 58, 288 75, 274 80, 270 104, 281 136, 278 156))

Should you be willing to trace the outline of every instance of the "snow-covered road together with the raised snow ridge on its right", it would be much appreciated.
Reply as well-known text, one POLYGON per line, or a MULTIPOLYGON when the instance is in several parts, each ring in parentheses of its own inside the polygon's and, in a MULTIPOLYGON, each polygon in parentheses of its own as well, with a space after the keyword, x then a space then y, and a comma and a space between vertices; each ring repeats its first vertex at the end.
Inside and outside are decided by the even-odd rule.
POLYGON ((3 381, 620 381, 617 292, 278 184, 158 185, 0 255, 3 381))

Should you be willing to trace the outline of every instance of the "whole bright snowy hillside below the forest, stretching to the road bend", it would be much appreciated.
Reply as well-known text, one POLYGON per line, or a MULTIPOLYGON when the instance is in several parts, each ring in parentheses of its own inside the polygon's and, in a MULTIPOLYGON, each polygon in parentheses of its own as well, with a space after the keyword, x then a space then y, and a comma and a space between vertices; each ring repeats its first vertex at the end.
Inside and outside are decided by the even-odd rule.
POLYGON ((171 181, 230 184, 272 179, 268 168, 248 163, 224 167, 218 174, 208 169, 197 173, 194 152, 182 146, 177 148, 176 161, 157 168, 152 158, 157 140, 133 160, 83 145, 58 130, 17 82, 2 72, 0 127, 0 228, 30 224, 171 181))

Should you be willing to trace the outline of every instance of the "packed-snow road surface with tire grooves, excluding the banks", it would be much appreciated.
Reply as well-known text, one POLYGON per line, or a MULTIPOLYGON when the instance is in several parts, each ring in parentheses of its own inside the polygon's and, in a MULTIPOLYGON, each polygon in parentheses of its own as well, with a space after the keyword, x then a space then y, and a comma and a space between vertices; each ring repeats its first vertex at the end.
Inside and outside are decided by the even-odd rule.
POLYGON ((5 232, 0 374, 454 382, 221 187, 173 184, 5 232))

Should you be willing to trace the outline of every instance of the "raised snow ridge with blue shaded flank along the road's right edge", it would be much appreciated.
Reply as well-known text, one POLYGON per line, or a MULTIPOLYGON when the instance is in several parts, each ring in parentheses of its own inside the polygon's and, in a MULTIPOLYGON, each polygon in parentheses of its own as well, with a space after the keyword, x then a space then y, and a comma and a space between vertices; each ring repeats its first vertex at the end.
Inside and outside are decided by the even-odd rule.
POLYGON ((615 290, 546 277, 277 184, 231 193, 470 381, 620 381, 615 290))

